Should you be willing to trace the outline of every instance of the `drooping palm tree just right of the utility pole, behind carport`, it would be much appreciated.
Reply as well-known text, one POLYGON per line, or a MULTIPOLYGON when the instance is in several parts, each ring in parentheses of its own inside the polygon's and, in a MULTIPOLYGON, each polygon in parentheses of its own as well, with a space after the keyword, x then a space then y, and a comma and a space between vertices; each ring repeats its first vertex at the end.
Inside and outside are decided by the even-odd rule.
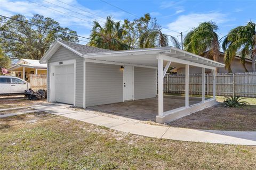
POLYGON ((188 52, 203 55, 208 52, 213 56, 214 61, 219 61, 219 36, 218 26, 215 22, 203 22, 197 28, 188 32, 184 39, 184 47, 188 52))

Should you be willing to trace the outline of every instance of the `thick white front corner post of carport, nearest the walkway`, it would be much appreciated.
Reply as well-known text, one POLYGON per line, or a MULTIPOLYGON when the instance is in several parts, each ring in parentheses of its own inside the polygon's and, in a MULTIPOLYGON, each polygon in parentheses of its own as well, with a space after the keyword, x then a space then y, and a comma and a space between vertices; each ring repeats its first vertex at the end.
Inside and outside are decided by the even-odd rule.
POLYGON ((158 115, 164 115, 163 59, 158 59, 158 115))

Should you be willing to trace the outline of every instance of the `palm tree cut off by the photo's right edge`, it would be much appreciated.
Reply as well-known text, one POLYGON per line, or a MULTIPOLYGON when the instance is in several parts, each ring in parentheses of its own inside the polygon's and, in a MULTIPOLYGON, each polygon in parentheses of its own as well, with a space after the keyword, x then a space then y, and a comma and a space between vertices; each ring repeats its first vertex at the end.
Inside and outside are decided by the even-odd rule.
POLYGON ((241 63, 244 67, 245 57, 250 56, 252 58, 252 71, 256 72, 255 23, 250 21, 245 26, 239 26, 230 30, 227 37, 223 40, 222 48, 225 50, 225 63, 229 72, 231 72, 230 63, 239 50, 241 54, 241 63))

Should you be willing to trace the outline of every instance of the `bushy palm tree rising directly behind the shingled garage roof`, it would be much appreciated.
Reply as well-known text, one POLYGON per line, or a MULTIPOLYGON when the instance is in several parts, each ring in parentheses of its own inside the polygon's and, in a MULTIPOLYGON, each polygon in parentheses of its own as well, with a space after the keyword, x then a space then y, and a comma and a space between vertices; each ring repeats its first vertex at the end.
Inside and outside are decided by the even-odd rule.
POLYGON ((111 16, 107 16, 103 27, 98 21, 93 21, 89 45, 111 50, 131 49, 122 41, 125 34, 126 31, 121 28, 120 21, 114 22, 111 16))

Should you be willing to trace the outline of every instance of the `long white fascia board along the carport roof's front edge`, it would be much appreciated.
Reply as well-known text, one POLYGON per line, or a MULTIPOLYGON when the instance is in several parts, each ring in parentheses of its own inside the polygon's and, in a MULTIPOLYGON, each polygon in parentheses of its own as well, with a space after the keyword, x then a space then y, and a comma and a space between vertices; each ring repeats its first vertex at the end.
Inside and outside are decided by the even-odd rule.
POLYGON ((175 54, 174 51, 170 49, 142 49, 142 50, 129 50, 122 52, 112 52, 112 53, 93 53, 85 54, 84 58, 98 58, 98 57, 114 57, 114 56, 133 56, 133 55, 147 55, 147 54, 175 54))

